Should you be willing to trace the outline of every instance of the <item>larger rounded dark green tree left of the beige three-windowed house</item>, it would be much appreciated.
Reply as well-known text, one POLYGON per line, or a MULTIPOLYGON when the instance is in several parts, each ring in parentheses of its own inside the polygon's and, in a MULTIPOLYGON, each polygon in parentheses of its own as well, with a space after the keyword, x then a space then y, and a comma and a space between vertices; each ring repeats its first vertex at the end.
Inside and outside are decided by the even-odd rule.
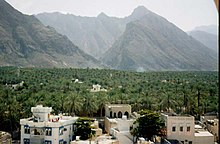
POLYGON ((160 119, 160 114, 150 110, 138 112, 141 116, 134 122, 131 134, 136 137, 151 139, 153 135, 159 135, 164 122, 160 119))

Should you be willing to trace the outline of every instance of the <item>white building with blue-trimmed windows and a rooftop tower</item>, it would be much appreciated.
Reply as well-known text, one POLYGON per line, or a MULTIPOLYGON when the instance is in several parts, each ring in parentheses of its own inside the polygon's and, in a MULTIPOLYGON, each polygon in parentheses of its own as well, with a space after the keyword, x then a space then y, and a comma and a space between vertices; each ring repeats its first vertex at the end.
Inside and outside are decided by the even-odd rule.
POLYGON ((69 144, 75 139, 71 116, 51 115, 51 107, 32 107, 33 117, 21 119, 21 144, 69 144))

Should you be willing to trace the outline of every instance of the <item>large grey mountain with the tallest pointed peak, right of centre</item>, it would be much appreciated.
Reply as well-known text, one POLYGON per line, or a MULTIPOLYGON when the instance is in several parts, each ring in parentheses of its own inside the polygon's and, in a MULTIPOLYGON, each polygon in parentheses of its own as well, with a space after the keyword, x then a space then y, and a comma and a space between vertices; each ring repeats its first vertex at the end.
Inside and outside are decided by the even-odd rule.
POLYGON ((143 7, 127 19, 133 17, 136 20, 127 23, 122 36, 102 57, 110 67, 136 71, 217 69, 213 50, 163 17, 143 7))

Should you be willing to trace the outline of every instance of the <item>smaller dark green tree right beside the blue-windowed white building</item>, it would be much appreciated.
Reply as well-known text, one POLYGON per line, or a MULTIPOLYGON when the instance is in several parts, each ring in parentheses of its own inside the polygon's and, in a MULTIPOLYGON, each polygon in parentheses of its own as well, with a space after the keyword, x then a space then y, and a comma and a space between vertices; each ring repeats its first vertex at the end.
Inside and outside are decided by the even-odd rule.
POLYGON ((76 122, 76 135, 80 136, 81 140, 87 140, 95 135, 91 124, 94 120, 90 118, 79 118, 76 122))

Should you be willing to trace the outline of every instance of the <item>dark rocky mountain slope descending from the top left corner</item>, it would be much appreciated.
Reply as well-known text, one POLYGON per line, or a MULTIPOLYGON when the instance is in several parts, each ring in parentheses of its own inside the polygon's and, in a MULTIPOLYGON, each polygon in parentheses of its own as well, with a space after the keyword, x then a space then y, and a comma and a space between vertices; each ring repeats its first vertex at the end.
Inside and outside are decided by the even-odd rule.
POLYGON ((100 67, 66 36, 0 0, 0 65, 21 67, 100 67))

